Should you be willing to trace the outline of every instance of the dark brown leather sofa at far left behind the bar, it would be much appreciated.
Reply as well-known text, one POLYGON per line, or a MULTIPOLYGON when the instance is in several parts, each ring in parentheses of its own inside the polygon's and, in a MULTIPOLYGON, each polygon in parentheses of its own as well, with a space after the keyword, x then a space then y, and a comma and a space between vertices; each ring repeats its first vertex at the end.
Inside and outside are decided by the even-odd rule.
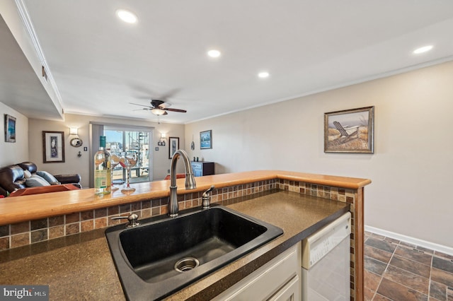
MULTIPOLYGON (((23 162, 16 165, 8 165, 0 168, 0 194, 7 196, 17 189, 27 188, 25 185, 26 179, 24 170, 28 170, 30 174, 35 174, 38 171, 38 166, 33 162, 23 162)), ((81 188, 81 177, 78 174, 71 175, 53 175, 61 184, 73 184, 75 187, 81 188)))

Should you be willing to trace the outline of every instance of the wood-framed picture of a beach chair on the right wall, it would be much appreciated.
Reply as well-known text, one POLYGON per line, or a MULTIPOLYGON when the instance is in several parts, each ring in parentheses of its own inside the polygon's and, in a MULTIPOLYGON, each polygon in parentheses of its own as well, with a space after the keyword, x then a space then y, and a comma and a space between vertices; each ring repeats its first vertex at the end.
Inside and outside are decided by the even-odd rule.
POLYGON ((324 153, 374 153, 374 106, 324 113, 324 153))

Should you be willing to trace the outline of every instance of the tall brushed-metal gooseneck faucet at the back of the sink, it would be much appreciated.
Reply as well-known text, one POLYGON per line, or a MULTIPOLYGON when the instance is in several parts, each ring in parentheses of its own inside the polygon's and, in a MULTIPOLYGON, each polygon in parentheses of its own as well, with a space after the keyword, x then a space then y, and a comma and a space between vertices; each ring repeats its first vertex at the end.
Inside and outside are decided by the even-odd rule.
POLYGON ((170 199, 168 200, 168 216, 174 218, 178 216, 178 194, 176 186, 176 162, 178 158, 181 157, 184 161, 185 167, 185 189, 195 189, 197 184, 195 183, 195 177, 193 176, 192 165, 190 165, 190 160, 183 150, 178 150, 176 153, 173 153, 173 158, 171 158, 170 166, 170 199))

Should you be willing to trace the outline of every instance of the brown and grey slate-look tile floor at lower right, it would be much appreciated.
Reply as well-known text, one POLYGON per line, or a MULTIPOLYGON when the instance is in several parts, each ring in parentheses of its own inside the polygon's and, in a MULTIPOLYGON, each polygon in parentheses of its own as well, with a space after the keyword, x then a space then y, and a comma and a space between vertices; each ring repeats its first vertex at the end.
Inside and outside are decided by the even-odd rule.
POLYGON ((453 301, 453 256, 365 232, 365 300, 453 301))

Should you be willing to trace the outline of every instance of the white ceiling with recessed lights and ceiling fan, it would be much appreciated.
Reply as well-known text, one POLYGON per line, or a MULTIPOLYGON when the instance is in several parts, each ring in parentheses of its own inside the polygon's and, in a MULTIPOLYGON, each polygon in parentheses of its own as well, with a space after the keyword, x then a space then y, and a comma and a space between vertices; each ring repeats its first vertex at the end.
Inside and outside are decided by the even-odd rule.
POLYGON ((156 121, 130 102, 166 98, 188 123, 453 59, 451 0, 23 2, 74 114, 156 121))

